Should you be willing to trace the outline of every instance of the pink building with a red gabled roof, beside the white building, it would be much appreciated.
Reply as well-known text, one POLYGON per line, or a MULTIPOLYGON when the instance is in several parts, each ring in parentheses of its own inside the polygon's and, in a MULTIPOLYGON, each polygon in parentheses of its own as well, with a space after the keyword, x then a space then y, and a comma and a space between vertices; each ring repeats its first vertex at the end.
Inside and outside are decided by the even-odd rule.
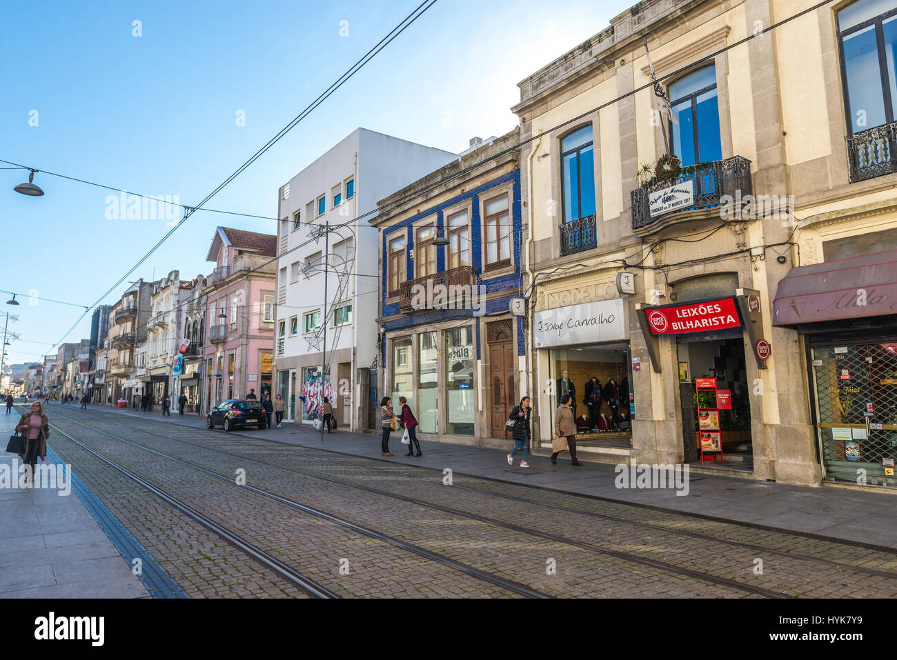
POLYGON ((271 392, 277 238, 219 227, 206 257, 203 412, 271 392))

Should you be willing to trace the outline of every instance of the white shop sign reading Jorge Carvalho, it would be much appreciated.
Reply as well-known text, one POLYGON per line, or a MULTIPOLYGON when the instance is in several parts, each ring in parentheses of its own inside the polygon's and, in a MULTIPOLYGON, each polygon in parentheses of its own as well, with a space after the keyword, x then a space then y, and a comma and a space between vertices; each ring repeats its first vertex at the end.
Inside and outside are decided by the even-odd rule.
POLYGON ((601 300, 536 312, 533 345, 568 346, 628 339, 623 300, 601 300))

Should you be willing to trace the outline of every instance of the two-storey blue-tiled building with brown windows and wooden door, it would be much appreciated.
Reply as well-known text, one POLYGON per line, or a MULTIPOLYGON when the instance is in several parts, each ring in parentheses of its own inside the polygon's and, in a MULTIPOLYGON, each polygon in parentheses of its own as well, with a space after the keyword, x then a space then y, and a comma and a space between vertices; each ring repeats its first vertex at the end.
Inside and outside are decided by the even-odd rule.
MULTIPOLYGON (((526 388, 518 130, 379 202, 379 391, 428 439, 505 444, 526 388), (440 245, 444 243, 444 245, 440 245), (523 387, 521 387, 523 386, 523 387)), ((478 146, 478 145, 477 145, 478 146)))

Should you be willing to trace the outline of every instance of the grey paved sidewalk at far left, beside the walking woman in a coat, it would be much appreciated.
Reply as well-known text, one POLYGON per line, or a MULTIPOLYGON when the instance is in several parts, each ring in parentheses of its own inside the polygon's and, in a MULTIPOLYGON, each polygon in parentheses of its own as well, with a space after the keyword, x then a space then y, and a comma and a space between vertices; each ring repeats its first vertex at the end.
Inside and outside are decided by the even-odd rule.
MULTIPOLYGON (((5 413, 5 406, 3 408, 5 413)), ((21 412, 2 414, 0 439, 13 435, 21 412)), ((52 413, 50 413, 52 414, 52 413)), ((47 460, 51 456, 52 431, 47 460)), ((19 456, 0 452, 11 474, 19 456)), ((14 484, 17 485, 17 484, 14 484)), ((142 598, 143 583, 74 491, 0 487, 0 598, 142 598)))

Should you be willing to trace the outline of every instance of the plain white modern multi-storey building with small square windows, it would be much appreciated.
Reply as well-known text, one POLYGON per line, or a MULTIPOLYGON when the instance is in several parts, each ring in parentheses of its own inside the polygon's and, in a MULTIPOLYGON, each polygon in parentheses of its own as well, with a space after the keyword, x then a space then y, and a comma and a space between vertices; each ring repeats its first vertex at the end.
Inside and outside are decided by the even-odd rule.
POLYGON ((369 406, 377 386, 370 366, 379 330, 378 231, 368 221, 379 199, 457 158, 359 128, 280 188, 274 394, 287 404, 287 421, 311 424, 330 395, 339 427, 379 426, 378 407, 369 406), (318 235, 326 224, 348 226, 318 235), (330 369, 322 393, 325 344, 330 369))

